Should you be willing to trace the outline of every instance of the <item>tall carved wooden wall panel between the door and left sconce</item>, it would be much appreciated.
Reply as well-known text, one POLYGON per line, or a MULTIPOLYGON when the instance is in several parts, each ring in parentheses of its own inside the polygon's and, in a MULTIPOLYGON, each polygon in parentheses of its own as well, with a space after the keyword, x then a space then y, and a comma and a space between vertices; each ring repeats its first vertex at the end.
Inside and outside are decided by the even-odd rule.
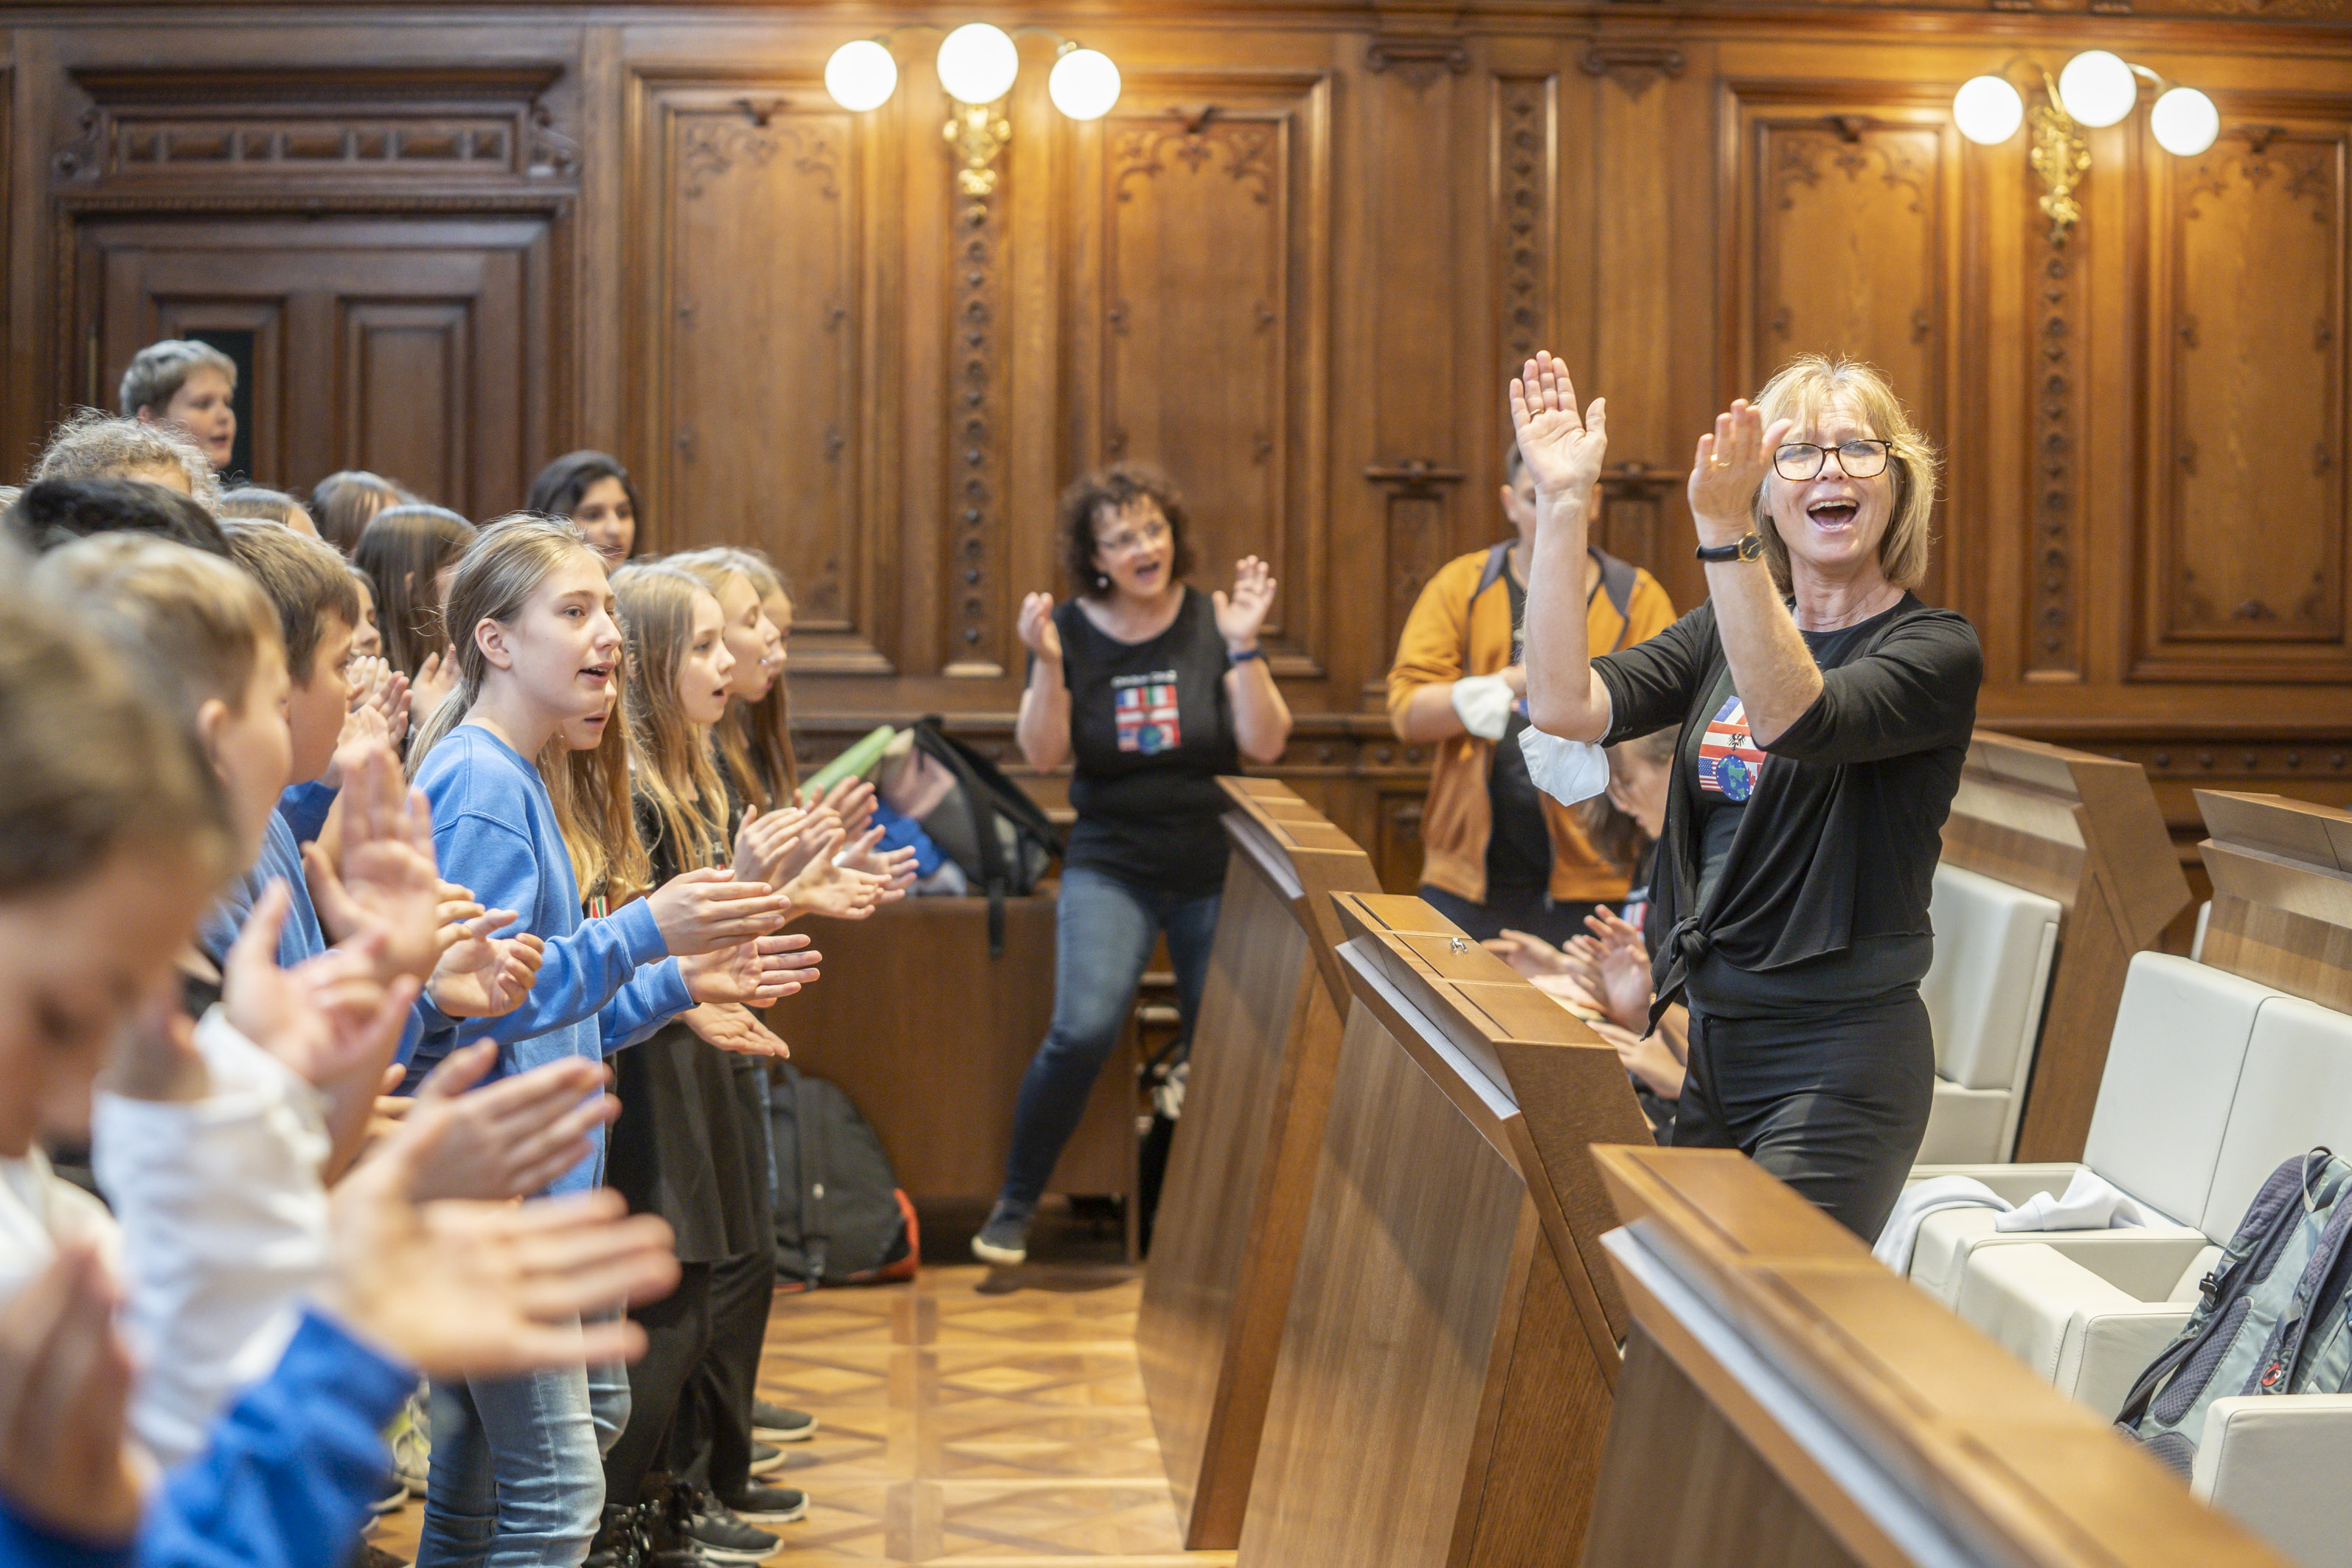
POLYGON ((802 80, 649 82, 644 106, 647 543, 767 550, 795 663, 887 670, 870 132, 802 80))

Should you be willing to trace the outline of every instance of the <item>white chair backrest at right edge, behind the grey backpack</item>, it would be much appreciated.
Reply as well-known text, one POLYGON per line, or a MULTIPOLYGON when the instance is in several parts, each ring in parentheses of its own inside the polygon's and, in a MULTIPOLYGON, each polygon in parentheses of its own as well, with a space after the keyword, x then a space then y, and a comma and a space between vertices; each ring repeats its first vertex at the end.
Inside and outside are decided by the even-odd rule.
POLYGON ((2270 997, 2253 1018, 2197 1229, 2227 1241, 2263 1178, 2314 1147, 2352 1159, 2352 1016, 2270 997))

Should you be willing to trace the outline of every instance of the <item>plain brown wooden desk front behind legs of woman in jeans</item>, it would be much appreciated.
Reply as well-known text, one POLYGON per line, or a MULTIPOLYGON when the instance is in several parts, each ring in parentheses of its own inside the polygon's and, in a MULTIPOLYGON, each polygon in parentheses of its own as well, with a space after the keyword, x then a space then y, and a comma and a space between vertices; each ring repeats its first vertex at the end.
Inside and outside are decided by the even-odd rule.
MULTIPOLYGON (((811 922, 826 978, 769 1011, 802 1072, 840 1084, 915 1199, 995 1197, 1021 1074, 1054 1020, 1054 900, 908 898, 873 919, 811 922)), ((1051 1192, 1136 1190, 1134 1030, 1103 1065, 1051 1192)))

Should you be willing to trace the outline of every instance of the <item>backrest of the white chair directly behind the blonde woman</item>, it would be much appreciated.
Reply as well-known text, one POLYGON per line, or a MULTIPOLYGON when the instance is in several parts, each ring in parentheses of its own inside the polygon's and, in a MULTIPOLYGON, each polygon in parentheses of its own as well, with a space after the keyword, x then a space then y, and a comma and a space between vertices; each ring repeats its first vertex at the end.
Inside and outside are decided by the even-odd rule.
POLYGON ((2056 898, 1959 865, 1936 867, 1929 898, 1936 959, 1919 980, 1919 999, 1936 1032, 1940 1077, 1962 1088, 2023 1084, 2042 1032, 2060 917, 2056 898))

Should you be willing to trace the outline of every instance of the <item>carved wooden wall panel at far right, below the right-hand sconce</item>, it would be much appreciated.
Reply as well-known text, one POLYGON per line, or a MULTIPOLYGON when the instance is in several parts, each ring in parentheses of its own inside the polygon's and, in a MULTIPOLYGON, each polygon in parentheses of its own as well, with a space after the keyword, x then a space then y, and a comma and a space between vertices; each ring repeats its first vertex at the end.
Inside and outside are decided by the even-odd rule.
POLYGON ((2143 679, 2352 672, 2345 108, 2225 122, 2201 158, 2152 165, 2143 679))

